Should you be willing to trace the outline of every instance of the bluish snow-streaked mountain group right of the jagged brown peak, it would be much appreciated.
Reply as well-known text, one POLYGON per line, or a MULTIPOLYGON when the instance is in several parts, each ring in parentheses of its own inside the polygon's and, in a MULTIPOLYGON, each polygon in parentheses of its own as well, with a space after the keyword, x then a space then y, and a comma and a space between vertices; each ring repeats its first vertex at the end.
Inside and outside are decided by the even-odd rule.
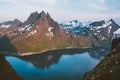
POLYGON ((89 36, 92 39, 92 46, 101 47, 110 47, 112 39, 119 37, 117 33, 120 30, 120 26, 113 19, 86 23, 73 20, 61 23, 61 27, 78 36, 89 36))

